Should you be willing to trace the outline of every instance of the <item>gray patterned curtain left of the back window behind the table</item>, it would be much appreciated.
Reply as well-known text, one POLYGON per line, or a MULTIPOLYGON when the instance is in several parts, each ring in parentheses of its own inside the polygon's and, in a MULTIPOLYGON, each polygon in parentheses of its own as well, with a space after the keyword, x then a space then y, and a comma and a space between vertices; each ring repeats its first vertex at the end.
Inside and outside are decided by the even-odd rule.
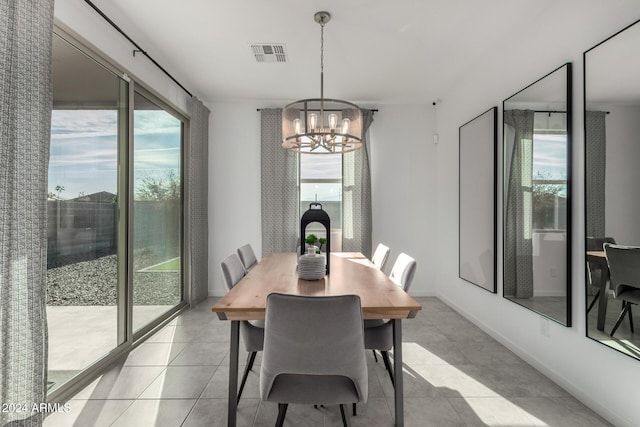
POLYGON ((298 229, 298 156, 282 148, 282 108, 262 109, 262 256, 293 252, 298 229))

